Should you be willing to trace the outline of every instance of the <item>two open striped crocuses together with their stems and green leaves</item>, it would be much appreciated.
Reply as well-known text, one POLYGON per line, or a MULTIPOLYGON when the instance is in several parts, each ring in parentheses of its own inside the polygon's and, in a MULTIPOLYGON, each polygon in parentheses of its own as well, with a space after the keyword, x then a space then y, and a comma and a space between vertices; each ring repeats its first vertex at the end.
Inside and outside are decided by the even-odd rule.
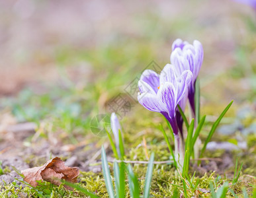
MULTIPOLYGON (((189 169, 190 157, 192 155, 196 158, 199 156, 200 140, 198 135, 206 117, 203 116, 202 119, 199 117, 200 96, 198 93, 200 92, 197 82, 203 57, 202 44, 198 40, 189 44, 189 42, 177 39, 172 45, 171 64, 165 65, 160 74, 147 69, 142 73, 138 82, 140 89, 138 102, 147 110, 162 114, 171 125, 175 141, 175 154, 171 150, 165 131, 163 131, 163 135, 165 135, 165 140, 173 155, 176 168, 185 174, 189 169), (189 100, 192 117, 190 125, 184 114, 187 100, 189 100), (186 134, 183 133, 183 122, 186 123, 186 134)), ((208 141, 210 141, 216 127, 231 104, 232 102, 212 125, 200 156, 202 156, 208 141)))

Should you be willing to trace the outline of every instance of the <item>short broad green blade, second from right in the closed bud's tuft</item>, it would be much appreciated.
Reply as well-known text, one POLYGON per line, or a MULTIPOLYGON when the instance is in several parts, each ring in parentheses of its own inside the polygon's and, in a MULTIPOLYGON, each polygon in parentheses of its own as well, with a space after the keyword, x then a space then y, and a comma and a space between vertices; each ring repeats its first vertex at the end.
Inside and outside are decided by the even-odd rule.
POLYGON ((132 171, 132 166, 130 164, 128 164, 127 166, 127 171, 131 197, 140 198, 140 186, 138 183, 138 179, 134 175, 134 172, 132 171))

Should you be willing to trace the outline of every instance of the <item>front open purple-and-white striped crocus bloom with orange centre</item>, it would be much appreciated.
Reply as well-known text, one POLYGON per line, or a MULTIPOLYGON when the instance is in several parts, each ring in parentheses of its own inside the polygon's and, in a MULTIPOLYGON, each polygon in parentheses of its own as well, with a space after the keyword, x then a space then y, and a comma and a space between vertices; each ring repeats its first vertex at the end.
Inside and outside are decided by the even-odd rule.
POLYGON ((138 82, 140 104, 149 111, 163 114, 171 124, 176 137, 179 136, 175 117, 177 104, 186 96, 191 81, 191 71, 183 71, 177 77, 174 65, 167 64, 160 75, 152 70, 144 71, 138 82))

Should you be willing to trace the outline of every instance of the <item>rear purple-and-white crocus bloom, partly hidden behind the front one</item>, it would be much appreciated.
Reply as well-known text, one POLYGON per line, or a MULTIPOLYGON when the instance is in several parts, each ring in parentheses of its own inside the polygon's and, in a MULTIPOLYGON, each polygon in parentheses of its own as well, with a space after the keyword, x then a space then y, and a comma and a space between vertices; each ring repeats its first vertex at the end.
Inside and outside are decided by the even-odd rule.
MULTIPOLYGON (((173 42, 172 50, 173 51, 171 53, 170 59, 171 63, 175 65, 175 75, 179 77, 183 71, 187 70, 192 72, 192 82, 189 86, 188 97, 194 117, 194 84, 196 82, 204 57, 202 44, 197 40, 194 40, 193 44, 189 44, 188 42, 183 42, 183 40, 178 38, 175 40, 175 42, 173 42)), ((180 106, 183 111, 185 110, 186 100, 187 98, 185 97, 180 102, 180 106)))

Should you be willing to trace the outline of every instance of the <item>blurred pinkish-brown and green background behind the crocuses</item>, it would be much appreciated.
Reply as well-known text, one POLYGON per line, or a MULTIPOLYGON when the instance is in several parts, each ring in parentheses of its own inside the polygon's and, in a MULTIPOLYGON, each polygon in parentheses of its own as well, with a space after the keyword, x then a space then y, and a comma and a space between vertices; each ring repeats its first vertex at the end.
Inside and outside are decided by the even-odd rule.
POLYGON ((100 145, 104 140, 92 135, 91 119, 110 114, 108 104, 118 96, 130 105, 120 115, 127 133, 159 123, 159 115, 130 96, 131 85, 144 69, 170 62, 177 38, 199 40, 204 47, 202 114, 214 120, 234 100, 220 131, 255 133, 256 15, 249 5, 0 1, 1 154, 17 155, 33 144, 40 152, 51 147, 54 154, 60 152, 54 148, 100 145), (47 143, 40 145, 40 139, 47 143))

